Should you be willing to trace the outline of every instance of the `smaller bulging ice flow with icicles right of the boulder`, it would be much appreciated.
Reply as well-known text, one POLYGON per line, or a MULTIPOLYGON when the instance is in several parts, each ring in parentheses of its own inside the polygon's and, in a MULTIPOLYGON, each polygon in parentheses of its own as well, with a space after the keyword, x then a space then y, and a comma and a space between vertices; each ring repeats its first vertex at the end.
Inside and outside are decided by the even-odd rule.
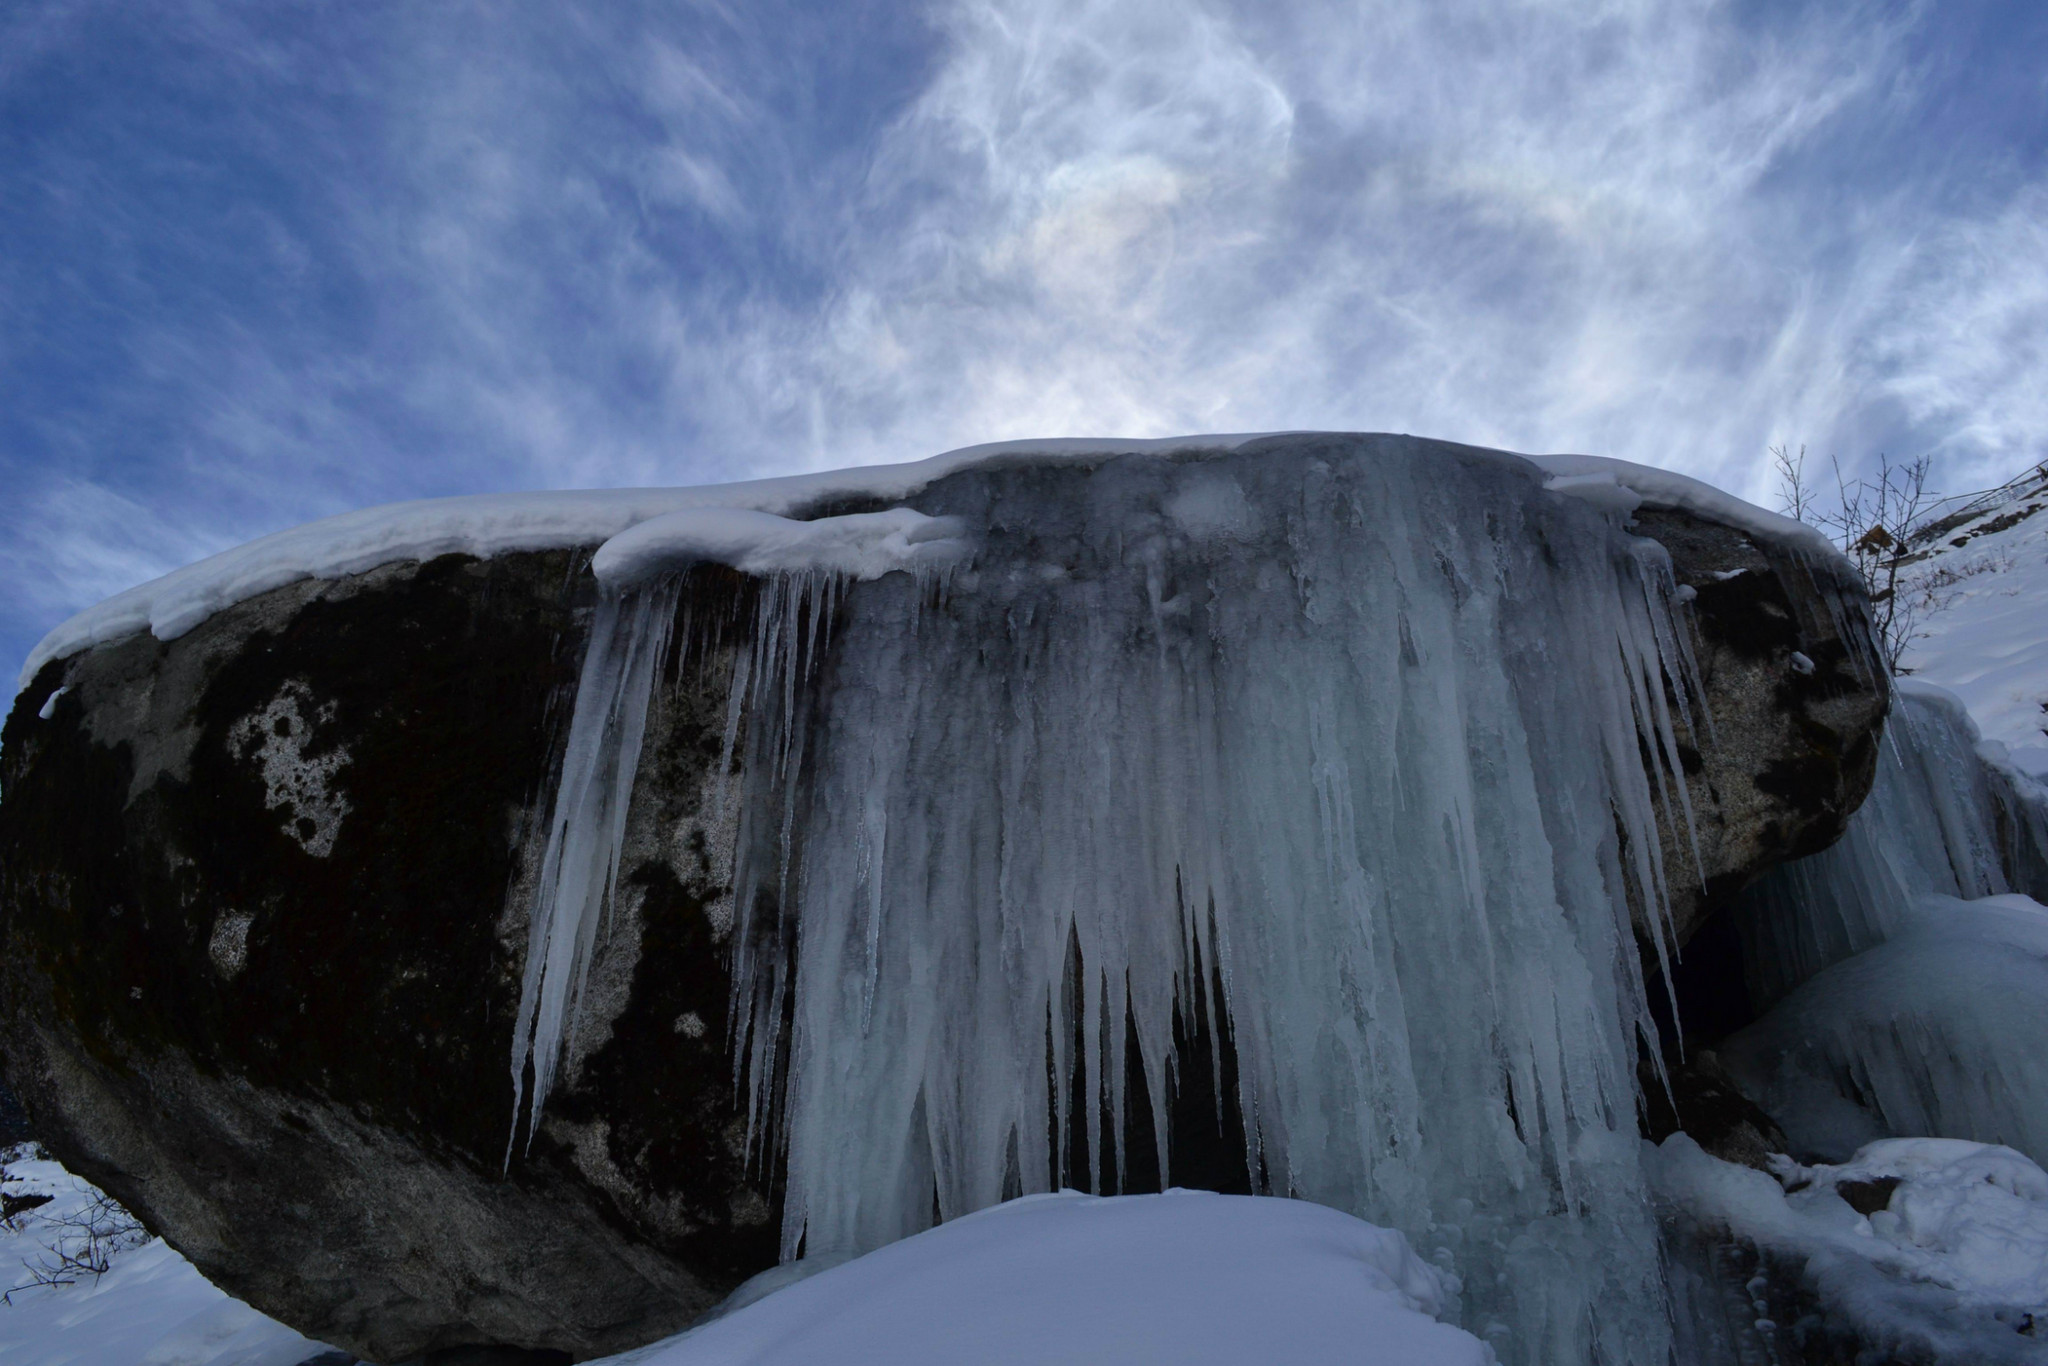
POLYGON ((1745 895, 1745 977, 1772 1010, 1729 1063, 1804 1151, 1944 1135, 2048 1161, 2042 899, 2048 793, 1952 694, 1903 680, 1843 838, 1745 895))

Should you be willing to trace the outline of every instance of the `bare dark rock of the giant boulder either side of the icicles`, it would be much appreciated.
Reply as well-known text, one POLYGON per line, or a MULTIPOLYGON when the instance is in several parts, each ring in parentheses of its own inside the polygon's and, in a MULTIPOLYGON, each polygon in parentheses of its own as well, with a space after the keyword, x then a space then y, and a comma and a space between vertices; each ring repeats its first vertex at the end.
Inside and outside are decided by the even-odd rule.
MULTIPOLYGON (((1694 516, 1642 512, 1638 532, 1698 594, 1714 735, 1683 760, 1704 879, 1683 836, 1665 848, 1690 934, 1841 831, 1886 694, 1853 664, 1839 586, 1694 516)), ((623 1350, 776 1257, 727 1036, 733 827, 713 791, 754 618, 731 571, 686 586, 700 629, 649 721, 621 905, 547 1112, 514 1141, 584 559, 295 584, 170 643, 49 664, 6 723, 0 1065, 37 1137, 223 1288, 371 1360, 623 1350)), ((1182 1182, 1204 1169, 1184 1151, 1182 1182)))

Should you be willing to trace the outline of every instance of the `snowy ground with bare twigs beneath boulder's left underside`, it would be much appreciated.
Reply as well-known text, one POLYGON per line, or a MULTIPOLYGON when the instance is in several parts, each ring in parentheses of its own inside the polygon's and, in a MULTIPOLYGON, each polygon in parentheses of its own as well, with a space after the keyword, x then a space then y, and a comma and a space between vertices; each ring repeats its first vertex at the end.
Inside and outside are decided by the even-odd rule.
MULTIPOLYGON (((23 1153, 27 1149, 16 1149, 23 1153)), ((4 1163, 6 1196, 49 1196, 0 1221, 0 1362, 6 1366, 322 1366, 350 1362, 276 1319, 268 1319, 141 1231, 119 1231, 102 1210, 104 1237, 88 1247, 86 1223, 98 1192, 41 1157, 4 1163), (92 1260, 104 1276, 59 1270, 59 1255, 92 1260), (72 1284, 35 1284, 39 1278, 72 1284)))

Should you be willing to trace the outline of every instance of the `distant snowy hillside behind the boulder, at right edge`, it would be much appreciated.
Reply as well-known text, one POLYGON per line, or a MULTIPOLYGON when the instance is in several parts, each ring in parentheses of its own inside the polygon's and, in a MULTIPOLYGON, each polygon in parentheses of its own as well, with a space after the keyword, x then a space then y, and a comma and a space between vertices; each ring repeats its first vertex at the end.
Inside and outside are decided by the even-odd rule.
POLYGON ((1929 602, 1901 664, 1960 696, 2021 770, 2048 776, 2048 475, 1948 528, 1915 584, 1929 602))

